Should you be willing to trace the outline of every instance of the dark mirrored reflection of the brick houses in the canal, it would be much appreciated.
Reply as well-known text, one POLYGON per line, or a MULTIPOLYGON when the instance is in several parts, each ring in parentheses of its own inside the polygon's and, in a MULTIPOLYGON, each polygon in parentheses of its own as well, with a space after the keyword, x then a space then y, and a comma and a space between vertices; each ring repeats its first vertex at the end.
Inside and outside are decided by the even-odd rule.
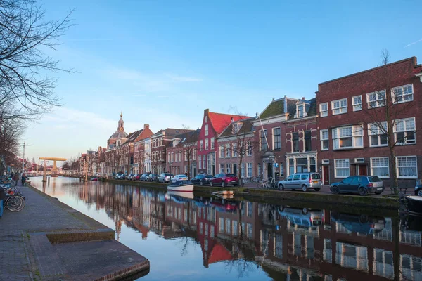
MULTIPOLYGON (((165 239, 198 243, 203 266, 227 262, 241 277, 261 267, 274 280, 422 280, 422 218, 309 209, 145 188, 82 185, 79 199, 115 221, 165 239)), ((303 206, 302 206, 303 205, 303 206)))

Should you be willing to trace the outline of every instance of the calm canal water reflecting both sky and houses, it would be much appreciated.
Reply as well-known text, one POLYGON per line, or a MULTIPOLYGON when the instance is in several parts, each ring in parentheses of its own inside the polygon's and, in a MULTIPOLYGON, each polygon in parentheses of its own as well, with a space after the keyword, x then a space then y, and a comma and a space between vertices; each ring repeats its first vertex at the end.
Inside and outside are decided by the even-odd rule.
POLYGON ((146 256, 140 280, 422 280, 422 219, 397 211, 31 180, 146 256))

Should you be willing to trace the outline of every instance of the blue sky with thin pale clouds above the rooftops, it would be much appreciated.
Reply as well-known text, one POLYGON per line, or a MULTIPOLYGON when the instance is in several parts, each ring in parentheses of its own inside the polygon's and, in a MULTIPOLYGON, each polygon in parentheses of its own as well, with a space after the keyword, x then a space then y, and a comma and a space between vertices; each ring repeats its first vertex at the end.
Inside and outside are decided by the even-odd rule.
POLYGON ((422 63, 420 0, 39 3, 48 20, 75 9, 46 54, 76 73, 50 74, 63 105, 28 124, 30 159, 105 147, 120 112, 127 133, 196 129, 207 108, 254 116, 272 98, 313 98, 321 82, 380 65, 382 49, 422 63))

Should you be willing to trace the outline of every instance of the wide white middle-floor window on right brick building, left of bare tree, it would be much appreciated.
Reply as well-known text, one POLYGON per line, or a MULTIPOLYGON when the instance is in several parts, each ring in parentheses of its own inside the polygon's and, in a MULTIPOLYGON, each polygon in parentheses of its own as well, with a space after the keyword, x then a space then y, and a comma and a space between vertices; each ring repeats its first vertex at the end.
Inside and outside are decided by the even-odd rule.
POLYGON ((334 128, 332 133, 335 150, 364 147, 364 130, 360 125, 334 128))

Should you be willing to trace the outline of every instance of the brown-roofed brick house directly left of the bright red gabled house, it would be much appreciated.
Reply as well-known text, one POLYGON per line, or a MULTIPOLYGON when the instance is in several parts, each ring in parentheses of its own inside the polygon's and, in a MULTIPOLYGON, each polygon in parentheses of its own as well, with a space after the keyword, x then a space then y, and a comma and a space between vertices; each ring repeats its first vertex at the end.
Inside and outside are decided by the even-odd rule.
POLYGON ((166 148, 166 171, 174 175, 185 174, 193 178, 198 173, 196 154, 200 130, 181 133, 173 138, 166 148))

